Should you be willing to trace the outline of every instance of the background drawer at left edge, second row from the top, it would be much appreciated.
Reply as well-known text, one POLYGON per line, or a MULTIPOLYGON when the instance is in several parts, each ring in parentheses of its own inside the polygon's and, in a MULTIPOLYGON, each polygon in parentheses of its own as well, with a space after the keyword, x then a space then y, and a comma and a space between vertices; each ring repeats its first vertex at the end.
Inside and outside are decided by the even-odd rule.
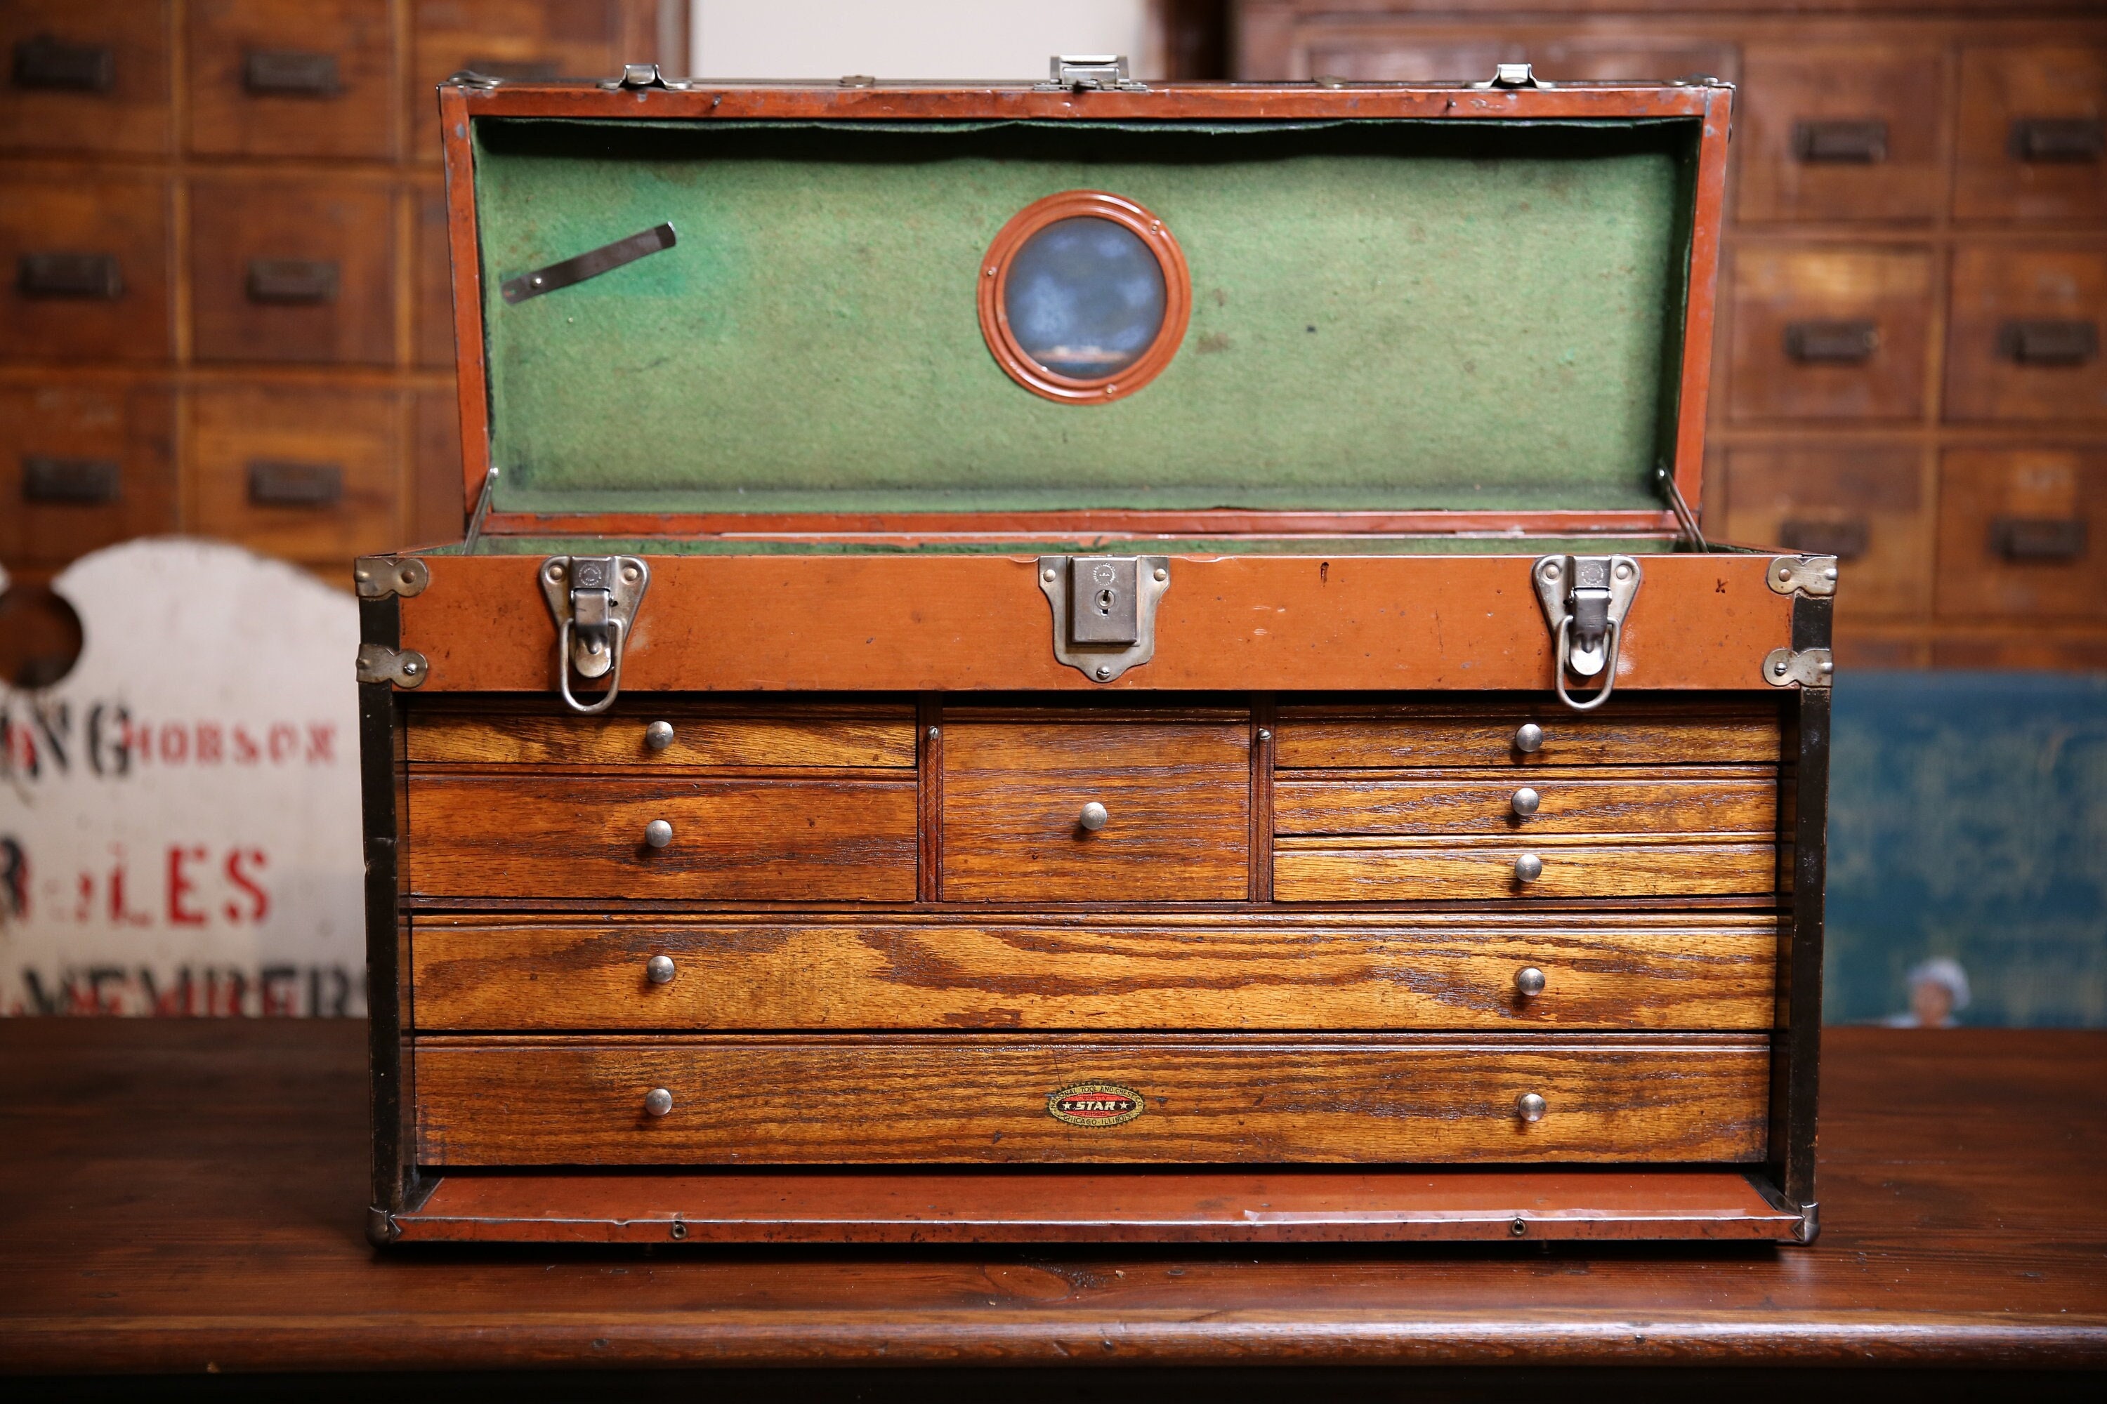
POLYGON ((0 356, 166 360, 169 185, 0 179, 0 356))

